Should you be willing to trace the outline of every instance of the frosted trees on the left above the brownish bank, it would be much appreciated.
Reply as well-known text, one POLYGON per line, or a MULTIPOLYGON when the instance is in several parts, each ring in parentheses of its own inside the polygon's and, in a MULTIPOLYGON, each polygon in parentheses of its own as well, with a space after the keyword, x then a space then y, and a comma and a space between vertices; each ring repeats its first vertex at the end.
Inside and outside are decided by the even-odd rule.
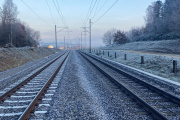
POLYGON ((15 47, 37 47, 40 32, 20 21, 17 6, 13 0, 5 0, 0 8, 0 46, 11 44, 15 47))

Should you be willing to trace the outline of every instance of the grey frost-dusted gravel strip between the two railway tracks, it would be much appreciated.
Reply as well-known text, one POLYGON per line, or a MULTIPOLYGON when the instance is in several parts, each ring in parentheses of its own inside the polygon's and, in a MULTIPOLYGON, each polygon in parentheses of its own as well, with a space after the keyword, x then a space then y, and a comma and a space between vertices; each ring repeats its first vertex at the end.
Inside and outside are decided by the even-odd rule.
POLYGON ((52 100, 45 117, 50 120, 153 119, 76 51, 70 53, 52 100))

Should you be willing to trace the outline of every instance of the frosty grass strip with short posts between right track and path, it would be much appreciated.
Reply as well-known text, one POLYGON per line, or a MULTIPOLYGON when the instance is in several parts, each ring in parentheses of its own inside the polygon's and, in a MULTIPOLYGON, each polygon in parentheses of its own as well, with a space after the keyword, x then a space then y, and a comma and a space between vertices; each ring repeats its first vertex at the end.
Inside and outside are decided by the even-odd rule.
POLYGON ((139 51, 126 51, 126 50, 104 50, 100 53, 93 52, 93 54, 99 55, 110 60, 141 69, 143 71, 168 78, 170 80, 180 82, 180 55, 166 55, 156 54, 152 52, 139 52, 139 51), (108 57, 108 51, 109 56, 108 57), (115 59, 114 54, 117 54, 115 59), (124 54, 127 55, 127 60, 124 59, 124 54), (141 64, 141 56, 144 56, 145 64, 141 64), (178 62, 178 72, 173 73, 173 60, 178 62))

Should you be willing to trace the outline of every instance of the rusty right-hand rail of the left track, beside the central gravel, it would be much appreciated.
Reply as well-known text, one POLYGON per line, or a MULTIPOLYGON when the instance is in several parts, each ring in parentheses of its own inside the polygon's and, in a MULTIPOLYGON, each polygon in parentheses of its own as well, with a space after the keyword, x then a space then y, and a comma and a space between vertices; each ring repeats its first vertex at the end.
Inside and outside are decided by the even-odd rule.
POLYGON ((54 80, 54 78, 56 77, 57 73, 59 72, 59 70, 61 69, 62 65, 64 64, 65 60, 67 59, 69 53, 66 55, 66 57, 63 59, 63 61, 61 62, 61 64, 59 65, 59 67, 56 69, 56 71, 52 74, 52 76, 50 77, 50 79, 46 82, 46 84, 42 87, 42 89, 39 91, 39 93, 37 94, 37 96, 33 99, 33 101, 29 104, 29 106, 26 108, 26 110, 23 112, 23 114, 19 117, 18 120, 26 120, 28 119, 31 111, 34 109, 34 107, 36 106, 36 104, 38 103, 39 99, 41 98, 41 96, 44 94, 45 90, 48 88, 49 84, 54 80))

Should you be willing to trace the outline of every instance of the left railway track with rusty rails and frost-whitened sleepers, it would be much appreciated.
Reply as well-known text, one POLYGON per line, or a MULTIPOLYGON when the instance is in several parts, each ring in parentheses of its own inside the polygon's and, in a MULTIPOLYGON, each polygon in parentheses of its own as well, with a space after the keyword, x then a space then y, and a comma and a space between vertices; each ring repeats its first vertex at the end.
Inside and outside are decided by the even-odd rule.
MULTIPOLYGON (((53 91, 58 83, 52 83, 61 66, 68 57, 69 52, 64 52, 56 59, 39 68, 18 85, 9 89, 0 96, 1 120, 28 119, 31 112, 38 105, 42 95, 48 89, 53 91), (52 84, 52 85, 51 85, 52 84), (51 87, 49 87, 51 85, 51 87)), ((52 94, 48 94, 52 95, 52 94)))

